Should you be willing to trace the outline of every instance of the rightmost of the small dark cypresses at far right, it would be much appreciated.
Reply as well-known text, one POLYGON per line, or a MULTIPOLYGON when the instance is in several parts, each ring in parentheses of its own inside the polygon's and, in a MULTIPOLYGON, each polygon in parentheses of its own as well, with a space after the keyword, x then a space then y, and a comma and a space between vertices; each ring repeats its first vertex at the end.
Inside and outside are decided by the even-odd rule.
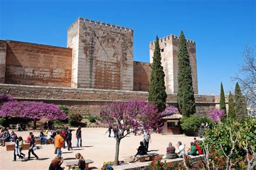
POLYGON ((242 96, 241 89, 238 83, 235 84, 235 117, 241 119, 247 116, 245 98, 242 96))

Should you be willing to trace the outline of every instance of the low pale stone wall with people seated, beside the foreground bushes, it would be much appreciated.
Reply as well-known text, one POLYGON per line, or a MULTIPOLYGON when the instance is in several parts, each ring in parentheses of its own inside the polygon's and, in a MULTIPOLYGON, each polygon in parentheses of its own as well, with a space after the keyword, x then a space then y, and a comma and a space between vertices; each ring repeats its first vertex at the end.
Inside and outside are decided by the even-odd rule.
MULTIPOLYGON (((199 156, 191 156, 190 161, 192 162, 192 164, 197 163, 199 160, 204 160, 203 155, 199 155, 199 156)), ((173 164, 179 164, 180 162, 183 162, 182 158, 177 158, 177 159, 163 159, 161 160, 162 162, 166 161, 168 162, 173 162, 173 164)), ((125 170, 140 170, 140 169, 150 169, 150 164, 151 161, 147 161, 147 162, 136 162, 136 163, 130 163, 129 165, 122 165, 122 166, 112 166, 112 168, 114 170, 121 170, 121 169, 125 169, 125 170)))

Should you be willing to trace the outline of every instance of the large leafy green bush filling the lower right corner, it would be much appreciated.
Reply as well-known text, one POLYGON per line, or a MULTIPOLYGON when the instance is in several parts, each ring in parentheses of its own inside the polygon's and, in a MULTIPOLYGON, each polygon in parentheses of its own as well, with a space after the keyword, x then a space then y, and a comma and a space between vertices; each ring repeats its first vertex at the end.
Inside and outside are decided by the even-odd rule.
MULTIPOLYGON (((235 140, 238 137, 238 142, 234 150, 232 159, 244 158, 246 151, 242 148, 245 146, 246 138, 248 139, 248 147, 250 150, 255 150, 255 129, 256 119, 248 117, 244 121, 238 121, 228 118, 222 124, 215 124, 212 129, 206 129, 204 131, 205 144, 208 144, 209 148, 215 147, 216 150, 223 155, 220 145, 223 147, 226 154, 229 154, 232 148, 230 139, 230 130, 232 138, 235 140)), ((201 144, 200 144, 201 145, 201 144)), ((203 147, 203 145, 201 145, 203 147)))

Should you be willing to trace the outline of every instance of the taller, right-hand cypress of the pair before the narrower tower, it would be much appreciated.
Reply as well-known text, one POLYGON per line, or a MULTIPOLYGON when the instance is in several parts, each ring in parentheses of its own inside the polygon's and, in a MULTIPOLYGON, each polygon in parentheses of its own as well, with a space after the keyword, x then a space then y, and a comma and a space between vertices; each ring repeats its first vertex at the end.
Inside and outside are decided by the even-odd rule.
POLYGON ((178 109, 184 116, 189 116, 196 112, 196 104, 194 102, 190 56, 187 52, 186 39, 183 31, 181 31, 179 37, 178 66, 178 109), (184 100, 185 103, 183 104, 184 100), (186 105, 186 111, 183 110, 184 105, 186 105))

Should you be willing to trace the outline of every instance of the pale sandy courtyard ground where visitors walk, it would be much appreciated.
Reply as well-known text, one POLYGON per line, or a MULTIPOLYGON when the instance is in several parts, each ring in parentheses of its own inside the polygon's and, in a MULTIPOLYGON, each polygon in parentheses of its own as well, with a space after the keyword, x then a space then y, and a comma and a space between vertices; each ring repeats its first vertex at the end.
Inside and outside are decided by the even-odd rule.
MULTIPOLYGON (((75 129, 74 129, 75 130, 75 129)), ((116 140, 111 134, 111 138, 105 134, 107 129, 104 128, 82 128, 83 147, 73 147, 73 150, 68 151, 67 148, 62 149, 62 157, 65 161, 75 160, 75 154, 81 153, 85 159, 91 159, 94 161, 90 164, 90 168, 102 167, 104 161, 114 160, 116 140)), ((11 130, 10 130, 11 132, 11 130)), ((39 131, 33 132, 35 136, 39 135, 39 131)), ((22 136, 25 140, 29 134, 29 131, 16 132, 17 136, 22 136)), ((143 136, 130 136, 121 140, 119 160, 124 160, 130 156, 136 154, 136 148, 139 146, 139 142, 143 140, 143 136)), ((149 144, 149 151, 153 151, 159 154, 166 153, 166 147, 169 142, 172 142, 177 150, 177 142, 181 141, 186 144, 186 147, 190 146, 190 141, 193 141, 193 137, 186 137, 183 135, 171 136, 162 134, 152 134, 152 142, 149 144)), ((56 156, 53 154, 53 145, 37 145, 40 146, 35 153, 39 159, 36 160, 33 155, 30 161, 26 161, 28 157, 28 150, 23 150, 26 154, 24 161, 17 159, 13 162, 14 151, 6 151, 5 147, 0 146, 0 164, 1 169, 48 169, 51 160, 56 156)), ((72 146, 76 146, 75 131, 72 132, 72 146)), ((65 168, 67 169, 67 168, 65 168)))

